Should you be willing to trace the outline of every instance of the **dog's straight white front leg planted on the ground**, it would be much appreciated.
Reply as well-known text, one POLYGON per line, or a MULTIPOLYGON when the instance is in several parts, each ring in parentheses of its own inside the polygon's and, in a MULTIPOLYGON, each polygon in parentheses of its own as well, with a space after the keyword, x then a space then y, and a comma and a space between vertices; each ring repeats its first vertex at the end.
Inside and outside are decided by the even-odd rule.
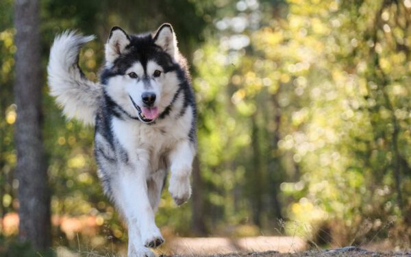
MULTIPOLYGON (((142 164, 132 166, 145 167, 142 164)), ((147 194, 146 174, 146 170, 123 167, 116 178, 116 188, 113 188, 116 203, 127 219, 129 257, 150 256, 146 247, 158 247, 164 242, 155 225, 154 212, 147 194)))

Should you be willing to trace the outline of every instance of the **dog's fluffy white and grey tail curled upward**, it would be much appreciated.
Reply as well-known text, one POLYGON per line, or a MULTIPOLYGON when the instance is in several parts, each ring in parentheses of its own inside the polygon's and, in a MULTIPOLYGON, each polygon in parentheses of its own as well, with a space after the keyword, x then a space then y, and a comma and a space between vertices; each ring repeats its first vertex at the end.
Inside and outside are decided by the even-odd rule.
POLYGON ((102 95, 101 84, 87 79, 79 67, 79 51, 95 36, 82 36, 76 32, 64 32, 57 36, 50 50, 50 95, 69 119, 77 118, 86 124, 95 121, 95 114, 102 95))

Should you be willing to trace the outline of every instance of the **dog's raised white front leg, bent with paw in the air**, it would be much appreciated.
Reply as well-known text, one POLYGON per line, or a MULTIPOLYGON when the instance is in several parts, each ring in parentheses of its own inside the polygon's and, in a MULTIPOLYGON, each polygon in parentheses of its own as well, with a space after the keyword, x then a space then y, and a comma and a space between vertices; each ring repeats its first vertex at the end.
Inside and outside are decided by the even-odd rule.
POLYGON ((194 156, 195 146, 190 140, 179 141, 170 153, 169 192, 177 205, 184 204, 191 195, 190 174, 194 156))

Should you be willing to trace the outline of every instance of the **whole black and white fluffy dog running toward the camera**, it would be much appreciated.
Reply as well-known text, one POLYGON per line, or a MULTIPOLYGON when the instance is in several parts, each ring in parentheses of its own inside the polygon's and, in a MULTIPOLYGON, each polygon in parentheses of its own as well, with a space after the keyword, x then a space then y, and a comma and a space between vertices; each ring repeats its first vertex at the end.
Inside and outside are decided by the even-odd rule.
POLYGON ((191 193, 196 109, 186 60, 169 24, 139 35, 113 27, 95 83, 78 65, 79 49, 93 38, 75 32, 55 38, 50 93, 67 117, 95 124, 99 177, 127 222, 128 256, 154 256, 149 248, 164 242, 154 214, 168 171, 177 205, 191 193))

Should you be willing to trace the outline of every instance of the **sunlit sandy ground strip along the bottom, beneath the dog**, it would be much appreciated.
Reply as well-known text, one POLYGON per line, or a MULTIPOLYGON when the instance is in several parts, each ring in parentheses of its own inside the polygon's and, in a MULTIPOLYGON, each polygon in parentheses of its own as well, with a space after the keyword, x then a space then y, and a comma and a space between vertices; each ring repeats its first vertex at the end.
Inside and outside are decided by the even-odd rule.
MULTIPOLYGON (((360 247, 340 247, 338 249, 307 250, 306 241, 291 236, 257 236, 245 238, 173 238, 164 246, 155 250, 162 257, 299 257, 299 256, 410 256, 411 252, 388 252, 390 248, 386 243, 363 245, 360 247), (381 248, 384 246, 384 248, 381 248)), ((126 256, 125 252, 97 254, 95 252, 73 253, 64 247, 56 250, 58 257, 119 257, 126 256)))

